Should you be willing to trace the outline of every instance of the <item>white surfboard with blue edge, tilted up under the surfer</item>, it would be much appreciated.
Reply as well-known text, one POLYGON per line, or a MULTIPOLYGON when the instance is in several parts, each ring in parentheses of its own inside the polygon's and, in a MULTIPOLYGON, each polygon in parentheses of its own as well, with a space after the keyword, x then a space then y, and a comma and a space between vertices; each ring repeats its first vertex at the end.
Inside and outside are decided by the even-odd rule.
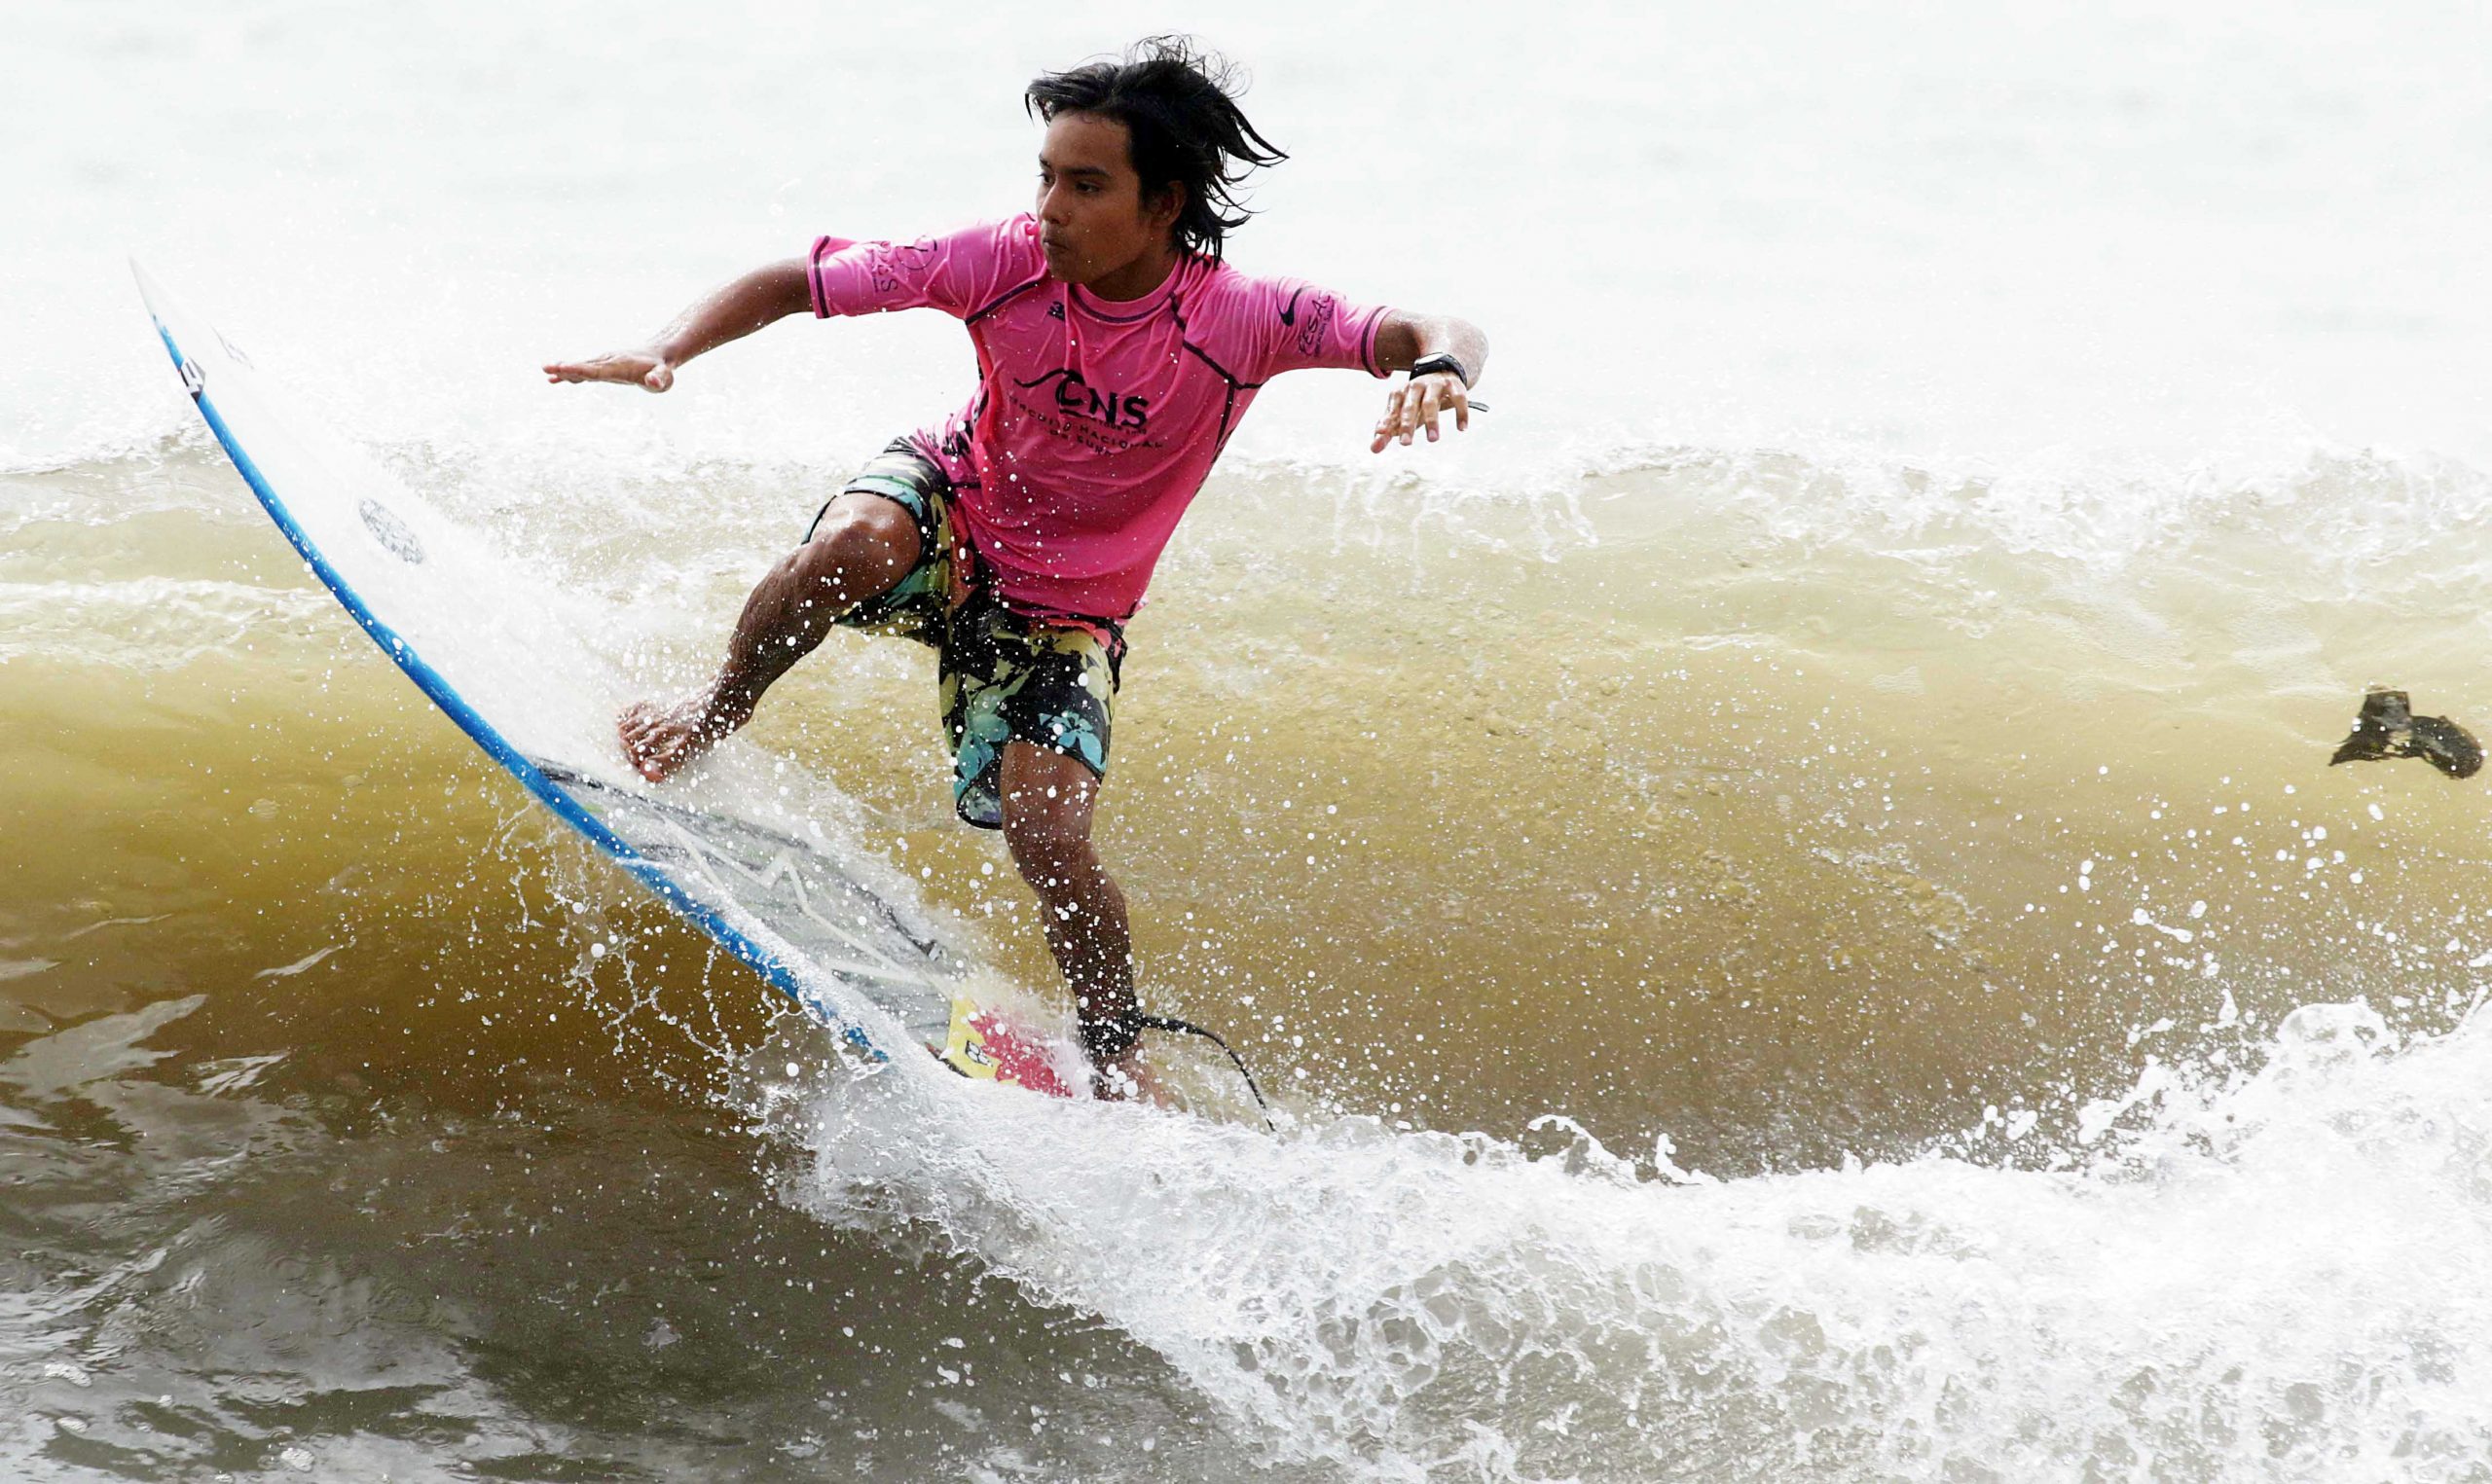
POLYGON ((979 1081, 1059 1098, 1087 1086, 1062 1033, 972 986, 887 862, 775 809, 758 769, 738 779, 713 754, 705 779, 643 782, 613 732, 628 680, 561 595, 130 269, 192 403, 307 570, 538 804, 855 1053, 925 1046, 979 1081))

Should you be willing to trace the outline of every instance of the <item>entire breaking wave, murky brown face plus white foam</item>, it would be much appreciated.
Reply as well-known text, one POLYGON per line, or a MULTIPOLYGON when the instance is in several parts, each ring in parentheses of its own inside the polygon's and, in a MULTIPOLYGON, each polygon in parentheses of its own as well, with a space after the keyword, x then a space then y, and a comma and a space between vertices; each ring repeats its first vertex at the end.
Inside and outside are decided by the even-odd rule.
MULTIPOLYGON (((708 662, 812 493, 391 461, 648 685, 708 662)), ((1154 1003, 1236 1031, 1296 1123, 805 1083, 755 1103, 802 1150, 785 1200, 1104 1317, 1283 1472, 2465 1477, 2492 1444, 2492 1046, 2457 1023, 2485 804, 2325 757, 2370 667, 2475 697, 2452 635, 2482 620, 2447 598, 2482 491, 2298 478, 2156 486, 2123 523, 2118 491, 1879 495, 1752 451, 1555 493, 1234 468, 1134 627, 1109 847, 1154 1003), (2415 580, 2318 598, 2385 560, 2365 540, 2415 580)), ((289 832, 249 847, 234 936, 279 971, 249 993, 319 993, 346 956, 307 949, 354 926, 503 989, 513 939, 439 924, 511 916, 473 852, 523 802, 207 453, 0 491, 0 600, 40 647, 0 675, 62 720, 5 740, 82 842, 52 896, 289 832), (145 837, 77 834, 137 807, 145 837), (346 859, 294 864, 324 852, 404 884, 252 939, 334 899, 346 859)), ((944 824, 917 660, 842 635, 750 744, 1049 984, 1009 866, 944 824)), ((625 1021, 688 971, 655 916, 581 949, 645 969, 625 1021)), ((72 961, 35 956, 25 986, 72 961)))

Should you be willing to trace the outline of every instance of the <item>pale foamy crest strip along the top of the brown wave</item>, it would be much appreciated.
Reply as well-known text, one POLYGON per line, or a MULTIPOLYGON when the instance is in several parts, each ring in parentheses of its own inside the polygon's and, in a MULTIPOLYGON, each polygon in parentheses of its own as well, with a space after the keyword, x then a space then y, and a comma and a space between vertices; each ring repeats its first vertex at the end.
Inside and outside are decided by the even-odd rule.
MULTIPOLYGON (((698 563, 723 550, 718 538, 790 540, 875 446, 750 458, 665 438, 601 446, 593 456, 541 443, 409 441, 381 443, 376 453, 446 510, 493 528, 528 555, 638 538, 648 560, 635 575, 663 578, 668 555, 698 563)), ((194 421, 75 458, 0 461, 7 481, 0 520, 15 528, 57 513, 60 491, 70 488, 85 495, 77 515, 87 520, 157 508, 169 483, 194 491, 174 495, 182 503, 227 508, 222 491, 202 488, 194 466, 214 468, 214 443, 194 421)), ((1336 540, 1413 550, 1473 543, 1558 560, 1625 523, 1680 538, 1710 533, 1710 545, 1737 535, 1794 555, 1849 548, 1929 568, 2063 560, 2101 583, 2213 563, 2235 580, 2323 583, 2325 595, 2365 595, 2382 580, 2467 590, 2485 578, 2492 553, 2477 538, 2492 515, 2492 473, 2427 451, 2320 441, 2185 463, 2066 451, 2011 463, 1911 461, 1827 441, 1749 448, 1625 441, 1528 463, 1433 466, 1231 456, 1189 533, 1219 525, 1229 505, 1286 508, 1301 528, 1336 540), (1306 523, 1308 508, 1321 518, 1306 523)), ((581 568, 603 568, 603 555, 581 568)))

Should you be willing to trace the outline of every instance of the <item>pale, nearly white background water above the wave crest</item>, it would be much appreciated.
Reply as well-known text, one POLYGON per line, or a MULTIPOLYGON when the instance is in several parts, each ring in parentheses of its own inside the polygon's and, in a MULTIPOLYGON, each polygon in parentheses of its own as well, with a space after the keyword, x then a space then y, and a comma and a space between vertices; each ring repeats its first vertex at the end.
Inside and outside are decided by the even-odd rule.
MULTIPOLYGON (((785 326, 665 398, 533 366, 648 334, 815 232, 1019 209, 1019 85, 1166 27, 1246 62, 1293 152, 1241 266, 1490 329, 1495 413, 1398 466, 1503 481, 1617 438, 2492 461, 2487 35, 2462 7, 17 20, 0 189, 27 229, 0 279, 42 291, 0 309, 10 468, 182 421, 125 251, 386 441, 548 466, 872 448, 964 398, 954 329, 785 326)), ((1236 448, 1363 463, 1373 396, 1283 381, 1236 448)))

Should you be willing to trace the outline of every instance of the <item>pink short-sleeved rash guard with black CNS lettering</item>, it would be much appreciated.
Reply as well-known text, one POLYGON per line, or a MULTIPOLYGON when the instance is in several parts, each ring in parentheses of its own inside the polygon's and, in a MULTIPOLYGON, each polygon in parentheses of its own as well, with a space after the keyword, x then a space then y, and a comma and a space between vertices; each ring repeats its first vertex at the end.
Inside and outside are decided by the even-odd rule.
POLYGON ((969 326, 977 396, 917 433, 962 535, 1012 608, 1121 622, 1253 393, 1301 366, 1376 364, 1383 309, 1298 279, 1179 259, 1131 301, 1047 276, 1032 217, 952 237, 812 244, 812 311, 942 309, 969 326))

